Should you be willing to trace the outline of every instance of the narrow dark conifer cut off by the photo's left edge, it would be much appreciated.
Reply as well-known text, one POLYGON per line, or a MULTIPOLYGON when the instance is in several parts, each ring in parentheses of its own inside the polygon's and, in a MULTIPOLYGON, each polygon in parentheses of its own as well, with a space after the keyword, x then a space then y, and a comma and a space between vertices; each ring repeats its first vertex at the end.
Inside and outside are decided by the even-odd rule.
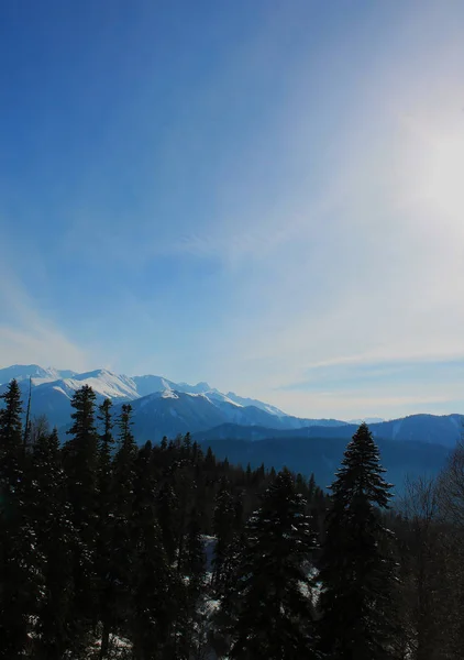
POLYGON ((12 381, 0 410, 0 658, 18 658, 29 645, 34 613, 35 539, 26 517, 21 392, 12 381))

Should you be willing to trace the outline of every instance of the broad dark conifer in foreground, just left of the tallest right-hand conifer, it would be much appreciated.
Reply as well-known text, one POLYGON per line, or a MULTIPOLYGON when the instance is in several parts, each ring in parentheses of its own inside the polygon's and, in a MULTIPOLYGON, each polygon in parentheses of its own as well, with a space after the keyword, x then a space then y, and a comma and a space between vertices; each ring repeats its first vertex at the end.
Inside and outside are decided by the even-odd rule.
POLYGON ((284 470, 246 526, 236 590, 228 598, 231 658, 316 657, 306 565, 314 541, 305 507, 292 475, 284 470))

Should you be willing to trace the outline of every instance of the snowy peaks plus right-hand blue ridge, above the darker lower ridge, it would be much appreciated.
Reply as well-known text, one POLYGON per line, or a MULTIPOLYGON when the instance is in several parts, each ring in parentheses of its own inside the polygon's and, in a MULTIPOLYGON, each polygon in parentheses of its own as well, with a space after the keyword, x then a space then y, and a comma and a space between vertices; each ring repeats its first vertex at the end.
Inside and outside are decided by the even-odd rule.
MULTIPOLYGON (((133 407, 134 433, 140 442, 157 441, 190 431, 202 438, 243 440, 278 437, 349 439, 361 420, 307 419, 286 415, 275 406, 223 394, 208 383, 175 383, 155 375, 125 376, 101 369, 81 374, 69 370, 43 369, 36 364, 13 365, 0 370, 0 394, 16 378, 26 402, 32 385, 31 414, 46 415, 49 424, 69 426, 70 400, 82 385, 92 387, 97 404, 112 399, 114 414, 123 403, 133 407), (30 381, 31 380, 31 381, 30 381)), ((379 421, 366 420, 374 436, 394 442, 415 441, 453 447, 462 435, 461 415, 411 415, 379 421)))

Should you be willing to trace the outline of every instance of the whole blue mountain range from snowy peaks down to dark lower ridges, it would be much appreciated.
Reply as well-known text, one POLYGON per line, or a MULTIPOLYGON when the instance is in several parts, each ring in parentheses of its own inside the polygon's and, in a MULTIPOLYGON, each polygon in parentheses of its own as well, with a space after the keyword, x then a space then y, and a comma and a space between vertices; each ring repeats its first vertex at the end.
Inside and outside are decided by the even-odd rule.
MULTIPOLYGON (((45 415, 62 437, 69 428, 75 392, 90 385, 97 403, 109 397, 118 415, 124 403, 133 409, 137 442, 159 441, 190 431, 205 448, 235 463, 286 464, 313 472, 324 485, 340 464, 344 447, 362 420, 312 419, 286 415, 279 408, 233 392, 221 393, 208 383, 175 383, 163 376, 126 376, 101 369, 76 373, 36 364, 0 370, 0 394, 16 378, 24 403, 31 392, 31 415, 45 415), (30 387, 31 384, 31 387, 30 387)), ((394 420, 367 419, 378 441, 389 479, 437 473, 461 437, 462 415, 410 415, 394 420)))

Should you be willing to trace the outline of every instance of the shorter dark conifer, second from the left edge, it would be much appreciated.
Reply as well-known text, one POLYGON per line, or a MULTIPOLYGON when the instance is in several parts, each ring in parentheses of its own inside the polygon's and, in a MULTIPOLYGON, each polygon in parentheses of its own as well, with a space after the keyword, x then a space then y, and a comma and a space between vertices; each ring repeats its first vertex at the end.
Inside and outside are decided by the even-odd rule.
POLYGON ((40 436, 34 443, 31 479, 33 498, 29 515, 37 539, 37 568, 42 583, 34 630, 34 658, 60 660, 69 646, 75 537, 56 429, 40 436))

